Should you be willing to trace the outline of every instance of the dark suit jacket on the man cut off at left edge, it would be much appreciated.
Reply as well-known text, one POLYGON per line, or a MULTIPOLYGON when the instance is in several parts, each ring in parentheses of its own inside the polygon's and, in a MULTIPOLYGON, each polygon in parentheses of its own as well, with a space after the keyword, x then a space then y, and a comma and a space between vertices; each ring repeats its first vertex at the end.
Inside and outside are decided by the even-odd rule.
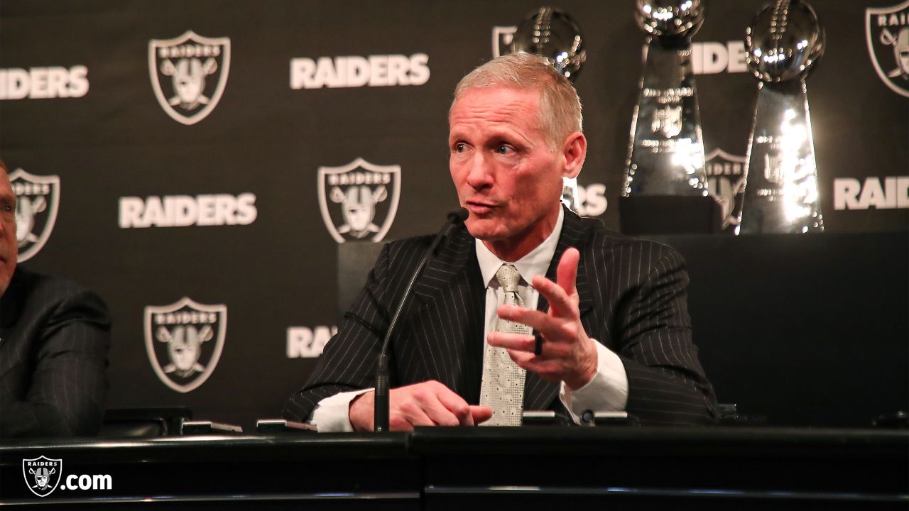
POLYGON ((101 298, 17 268, 0 297, 0 436, 97 433, 109 330, 101 298))

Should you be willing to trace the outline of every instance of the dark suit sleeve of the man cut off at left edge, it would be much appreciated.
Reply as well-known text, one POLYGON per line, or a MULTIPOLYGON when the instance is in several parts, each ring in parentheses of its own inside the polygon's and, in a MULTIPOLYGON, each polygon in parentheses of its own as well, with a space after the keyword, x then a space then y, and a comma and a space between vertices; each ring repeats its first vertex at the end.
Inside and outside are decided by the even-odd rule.
POLYGON ((52 298, 60 289, 48 286, 28 296, 26 307, 53 305, 37 319, 25 355, 30 372, 25 395, 5 402, 0 436, 94 435, 104 418, 110 346, 106 307, 95 294, 57 283, 66 285, 63 299, 52 298))

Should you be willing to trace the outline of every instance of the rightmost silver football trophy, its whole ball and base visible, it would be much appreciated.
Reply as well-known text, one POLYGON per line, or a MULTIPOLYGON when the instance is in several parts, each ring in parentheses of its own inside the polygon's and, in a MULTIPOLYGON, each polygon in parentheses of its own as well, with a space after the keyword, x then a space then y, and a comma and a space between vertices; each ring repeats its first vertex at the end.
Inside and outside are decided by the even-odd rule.
POLYGON ((824 29, 810 5, 778 0, 754 18, 745 44, 760 81, 742 233, 823 232, 804 79, 824 53, 824 29))

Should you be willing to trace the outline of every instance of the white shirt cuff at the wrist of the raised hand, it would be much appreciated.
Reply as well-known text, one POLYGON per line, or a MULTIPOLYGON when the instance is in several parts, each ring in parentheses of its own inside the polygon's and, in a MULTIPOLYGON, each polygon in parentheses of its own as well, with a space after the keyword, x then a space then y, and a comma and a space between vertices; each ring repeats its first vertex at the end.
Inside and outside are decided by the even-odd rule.
MULTIPOLYGON (((584 412, 621 412, 628 403, 628 375, 618 355, 594 339, 596 344, 596 374, 577 390, 562 382, 559 399, 574 424, 584 424, 584 412)), ((593 426, 593 423, 589 423, 593 426)))

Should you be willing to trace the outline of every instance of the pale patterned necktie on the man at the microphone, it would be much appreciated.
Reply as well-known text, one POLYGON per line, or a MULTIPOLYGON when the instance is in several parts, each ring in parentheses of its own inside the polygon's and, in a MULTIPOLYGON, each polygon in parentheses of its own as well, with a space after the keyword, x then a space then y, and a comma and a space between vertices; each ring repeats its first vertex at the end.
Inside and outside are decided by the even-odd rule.
MULTIPOLYGON (((521 280, 514 265, 504 264, 495 272, 495 280, 504 293, 504 303, 510 306, 524 306, 518 295, 517 284, 521 280)), ((529 326, 495 318, 495 332, 530 334, 529 326)), ((483 382, 480 386, 480 405, 493 409, 493 418, 482 426, 521 426, 521 412, 524 410, 524 375, 526 371, 514 364, 508 350, 486 345, 483 358, 483 382)))

